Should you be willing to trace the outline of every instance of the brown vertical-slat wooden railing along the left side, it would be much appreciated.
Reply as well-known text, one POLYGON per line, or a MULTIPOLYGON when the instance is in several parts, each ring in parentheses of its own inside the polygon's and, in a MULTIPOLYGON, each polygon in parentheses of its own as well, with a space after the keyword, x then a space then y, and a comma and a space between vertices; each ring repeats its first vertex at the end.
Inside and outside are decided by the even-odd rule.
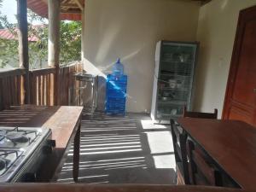
MULTIPOLYGON (((31 104, 68 105, 69 88, 79 85, 73 74, 82 70, 82 64, 76 63, 67 67, 60 67, 58 71, 55 68, 30 71, 31 104), (58 89, 55 89, 56 87, 58 89)), ((24 74, 25 70, 23 69, 0 72, 0 110, 11 105, 24 104, 24 89, 22 86, 24 74)))

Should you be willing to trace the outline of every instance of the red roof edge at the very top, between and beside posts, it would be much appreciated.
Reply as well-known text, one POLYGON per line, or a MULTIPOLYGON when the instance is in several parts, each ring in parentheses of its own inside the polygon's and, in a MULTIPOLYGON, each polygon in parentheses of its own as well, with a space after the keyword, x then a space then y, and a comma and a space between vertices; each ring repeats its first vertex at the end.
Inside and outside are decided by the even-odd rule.
MULTIPOLYGON (((48 5, 44 0, 26 0, 27 8, 31 9, 36 14, 48 18, 48 5)), ((61 20, 81 20, 81 14, 61 14, 61 20)))

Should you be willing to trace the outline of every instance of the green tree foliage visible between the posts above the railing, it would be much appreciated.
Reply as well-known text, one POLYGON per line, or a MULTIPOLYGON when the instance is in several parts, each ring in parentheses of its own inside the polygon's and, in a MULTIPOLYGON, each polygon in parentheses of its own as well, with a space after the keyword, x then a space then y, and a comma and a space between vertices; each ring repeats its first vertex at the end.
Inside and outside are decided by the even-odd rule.
MULTIPOLYGON (((0 0, 1 4, 1 0, 0 0)), ((37 67, 36 64, 47 58, 48 53, 48 26, 45 24, 44 18, 36 15, 28 9, 28 37, 36 37, 38 41, 29 42, 29 64, 31 68, 37 67), (41 21, 44 23, 41 26, 32 26, 34 21, 41 21)), ((0 23, 4 28, 8 28, 15 37, 17 33, 15 26, 10 24, 6 15, 0 13, 0 23)), ((79 61, 81 55, 81 32, 82 24, 80 21, 61 21, 61 52, 60 62, 61 65, 66 65, 71 61, 79 61)), ((4 67, 9 62, 16 61, 18 63, 18 41, 7 40, 0 38, 0 67, 4 67)))

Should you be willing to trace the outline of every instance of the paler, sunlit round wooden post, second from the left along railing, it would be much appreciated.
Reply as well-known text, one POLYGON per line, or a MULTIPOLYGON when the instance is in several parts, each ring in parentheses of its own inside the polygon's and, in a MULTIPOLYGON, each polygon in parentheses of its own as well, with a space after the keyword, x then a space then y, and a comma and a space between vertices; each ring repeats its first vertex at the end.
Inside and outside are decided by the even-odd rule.
POLYGON ((48 0, 49 38, 48 38, 48 65, 55 67, 54 104, 58 105, 59 97, 59 65, 60 65, 60 0, 48 0))

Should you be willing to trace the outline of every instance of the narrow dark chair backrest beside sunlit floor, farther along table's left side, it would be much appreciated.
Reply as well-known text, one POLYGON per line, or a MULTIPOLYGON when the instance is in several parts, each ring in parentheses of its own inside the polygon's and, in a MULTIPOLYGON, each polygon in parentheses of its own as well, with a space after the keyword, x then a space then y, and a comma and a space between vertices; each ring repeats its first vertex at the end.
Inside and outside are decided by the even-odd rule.
POLYGON ((186 154, 187 134, 171 119, 172 143, 176 160, 177 176, 181 183, 189 184, 188 159, 186 154), (180 177, 183 177, 180 179, 180 177))

